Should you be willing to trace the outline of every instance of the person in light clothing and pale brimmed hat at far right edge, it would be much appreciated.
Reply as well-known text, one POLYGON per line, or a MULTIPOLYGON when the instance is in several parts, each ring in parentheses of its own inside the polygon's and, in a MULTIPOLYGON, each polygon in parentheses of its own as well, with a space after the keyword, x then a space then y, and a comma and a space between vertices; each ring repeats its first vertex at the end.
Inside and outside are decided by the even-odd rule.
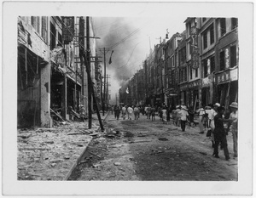
POLYGON ((231 103, 230 105, 231 113, 230 113, 230 132, 233 136, 233 150, 234 157, 237 157, 237 122, 238 122, 238 104, 236 102, 231 103))

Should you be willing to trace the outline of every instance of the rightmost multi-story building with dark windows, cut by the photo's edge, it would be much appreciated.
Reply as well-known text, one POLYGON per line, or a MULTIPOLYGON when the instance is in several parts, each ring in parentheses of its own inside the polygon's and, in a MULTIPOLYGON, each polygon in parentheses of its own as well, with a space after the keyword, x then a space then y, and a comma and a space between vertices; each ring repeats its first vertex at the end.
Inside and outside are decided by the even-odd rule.
POLYGON ((238 20, 217 18, 216 98, 226 108, 238 99, 238 20))

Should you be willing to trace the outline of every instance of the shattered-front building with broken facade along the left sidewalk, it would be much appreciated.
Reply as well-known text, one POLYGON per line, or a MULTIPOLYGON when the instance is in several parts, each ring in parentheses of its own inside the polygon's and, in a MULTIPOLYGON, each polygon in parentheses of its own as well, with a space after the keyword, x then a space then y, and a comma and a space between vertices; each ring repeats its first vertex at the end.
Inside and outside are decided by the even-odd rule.
MULTIPOLYGON (((56 112, 68 119, 68 108, 87 106, 79 62, 85 42, 78 39, 84 30, 79 17, 18 17, 18 126, 50 127, 56 112)), ((93 41, 90 46, 94 54, 93 41)))

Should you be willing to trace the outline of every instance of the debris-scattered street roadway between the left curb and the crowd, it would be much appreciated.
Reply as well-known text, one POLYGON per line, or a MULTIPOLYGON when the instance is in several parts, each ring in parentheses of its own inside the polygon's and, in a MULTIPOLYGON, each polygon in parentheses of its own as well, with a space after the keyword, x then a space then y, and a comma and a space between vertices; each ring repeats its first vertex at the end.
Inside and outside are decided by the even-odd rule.
POLYGON ((138 120, 107 117, 108 134, 89 144, 69 180, 230 181, 237 180, 229 133, 230 161, 212 156, 212 143, 199 127, 182 132, 172 122, 164 125, 141 115, 138 120))

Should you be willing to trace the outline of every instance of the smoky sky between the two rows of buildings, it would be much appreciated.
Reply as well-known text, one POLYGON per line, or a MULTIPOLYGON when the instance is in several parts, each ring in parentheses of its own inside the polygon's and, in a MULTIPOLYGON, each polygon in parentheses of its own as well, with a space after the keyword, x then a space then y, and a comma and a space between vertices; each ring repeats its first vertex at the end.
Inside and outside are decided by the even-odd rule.
POLYGON ((110 74, 108 81, 111 83, 111 96, 115 99, 119 88, 125 86, 131 76, 143 68, 143 61, 150 48, 154 50, 154 45, 160 43, 160 37, 161 41, 165 39, 166 29, 170 32, 169 37, 184 31, 183 21, 186 18, 92 17, 92 20, 96 37, 101 37, 96 39, 96 50, 102 56, 102 67, 104 57, 99 48, 111 48, 106 55, 106 67, 107 74, 110 74), (131 37, 122 42, 127 36, 131 37), (112 64, 109 65, 112 50, 112 64))

